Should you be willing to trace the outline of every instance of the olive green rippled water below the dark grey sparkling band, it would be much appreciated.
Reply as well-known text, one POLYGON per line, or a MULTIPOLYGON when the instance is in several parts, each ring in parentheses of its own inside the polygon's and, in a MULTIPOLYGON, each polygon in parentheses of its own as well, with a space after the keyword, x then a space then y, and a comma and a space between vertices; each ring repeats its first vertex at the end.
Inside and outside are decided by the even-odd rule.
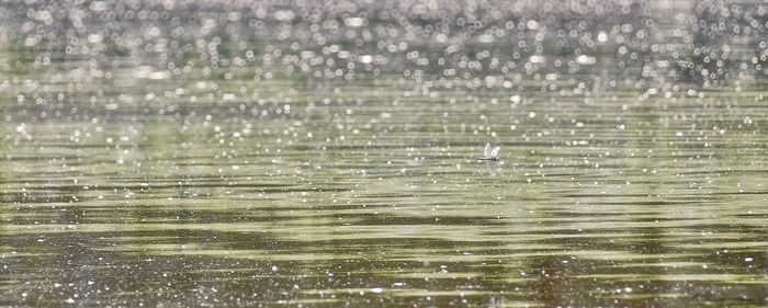
POLYGON ((1 306, 768 300, 759 78, 315 87, 3 46, 1 306))

